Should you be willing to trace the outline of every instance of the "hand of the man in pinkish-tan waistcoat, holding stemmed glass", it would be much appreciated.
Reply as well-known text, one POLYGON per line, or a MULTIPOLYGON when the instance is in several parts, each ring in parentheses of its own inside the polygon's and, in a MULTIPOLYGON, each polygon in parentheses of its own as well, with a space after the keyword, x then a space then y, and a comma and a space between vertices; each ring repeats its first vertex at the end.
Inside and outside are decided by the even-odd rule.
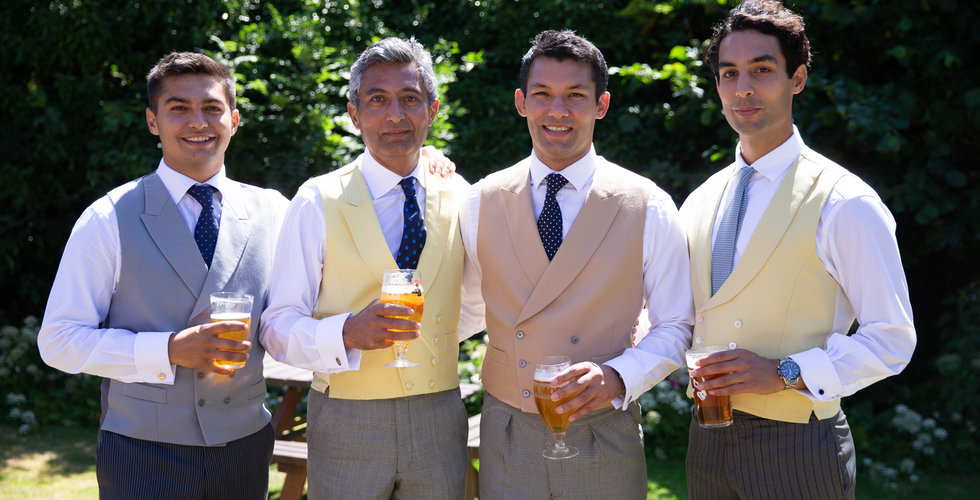
POLYGON ((626 386, 616 370, 592 362, 576 363, 559 373, 552 384, 561 386, 551 395, 552 401, 561 401, 570 396, 555 409, 558 413, 571 413, 569 422, 574 422, 586 413, 609 404, 623 393, 626 386))

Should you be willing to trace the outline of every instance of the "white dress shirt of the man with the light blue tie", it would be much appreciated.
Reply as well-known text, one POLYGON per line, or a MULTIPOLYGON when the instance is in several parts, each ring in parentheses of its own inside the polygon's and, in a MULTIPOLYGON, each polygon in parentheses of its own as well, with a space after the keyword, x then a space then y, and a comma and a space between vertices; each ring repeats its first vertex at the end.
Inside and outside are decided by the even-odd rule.
MULTIPOLYGON (((751 165, 756 172, 745 191, 747 206, 734 265, 738 265, 762 214, 803 147, 794 126, 786 142, 751 165)), ((733 178, 747 166, 741 143, 736 146, 735 158, 730 167, 733 178)), ((715 216, 712 246, 735 184, 730 178, 715 216)), ((817 223, 816 251, 824 269, 841 286, 834 330, 828 332, 823 347, 789 357, 800 365, 803 380, 813 389, 801 392, 811 399, 830 401, 901 372, 915 349, 915 327, 895 240, 895 219, 874 189, 856 175, 843 176, 831 190, 817 223), (848 336, 852 311, 859 326, 848 336)))

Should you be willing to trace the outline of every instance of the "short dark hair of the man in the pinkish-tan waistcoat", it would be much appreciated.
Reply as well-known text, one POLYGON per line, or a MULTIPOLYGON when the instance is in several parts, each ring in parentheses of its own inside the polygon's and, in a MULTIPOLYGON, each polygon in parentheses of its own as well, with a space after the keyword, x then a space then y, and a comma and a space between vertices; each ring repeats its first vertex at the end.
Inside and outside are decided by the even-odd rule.
POLYGON ((592 42, 576 35, 572 30, 542 31, 534 37, 531 48, 521 59, 521 92, 527 95, 527 78, 531 63, 537 57, 550 57, 558 61, 571 59, 588 64, 592 68, 592 81, 595 83, 596 103, 609 84, 609 70, 602 52, 592 42))

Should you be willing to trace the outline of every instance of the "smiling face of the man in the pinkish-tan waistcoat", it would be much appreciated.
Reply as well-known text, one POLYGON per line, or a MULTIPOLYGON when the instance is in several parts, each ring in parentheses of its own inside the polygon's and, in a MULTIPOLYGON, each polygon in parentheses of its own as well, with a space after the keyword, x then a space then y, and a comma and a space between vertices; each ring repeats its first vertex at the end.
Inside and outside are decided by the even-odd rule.
POLYGON ((518 89, 514 105, 527 118, 538 158, 559 171, 585 156, 595 121, 609 109, 609 92, 596 102, 591 67, 572 59, 538 57, 528 71, 527 94, 518 89))

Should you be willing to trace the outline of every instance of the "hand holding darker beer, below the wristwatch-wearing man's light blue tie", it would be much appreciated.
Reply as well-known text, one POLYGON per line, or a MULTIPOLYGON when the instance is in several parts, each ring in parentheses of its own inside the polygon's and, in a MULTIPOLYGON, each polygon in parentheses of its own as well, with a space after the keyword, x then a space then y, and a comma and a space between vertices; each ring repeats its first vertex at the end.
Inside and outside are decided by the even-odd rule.
MULTIPOLYGON (((772 394, 786 388, 776 373, 779 360, 763 358, 745 349, 732 349, 705 356, 698 360, 698 368, 691 371, 694 378, 713 377, 698 384, 699 390, 707 390, 712 396, 732 394, 772 394)), ((803 380, 797 388, 804 387, 803 380)))

